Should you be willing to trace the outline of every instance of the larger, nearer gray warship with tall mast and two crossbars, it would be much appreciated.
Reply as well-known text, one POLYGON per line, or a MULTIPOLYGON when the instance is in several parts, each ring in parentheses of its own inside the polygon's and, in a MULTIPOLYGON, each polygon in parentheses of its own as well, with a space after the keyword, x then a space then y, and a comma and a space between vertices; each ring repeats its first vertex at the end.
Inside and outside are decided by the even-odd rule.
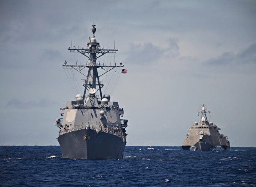
MULTIPOLYGON (((70 159, 122 159, 127 143, 127 119, 121 119, 124 109, 119 107, 117 101, 110 101, 110 95, 102 95, 102 81, 99 77, 112 69, 122 69, 114 64, 107 66, 97 62, 97 59, 107 53, 116 53, 118 49, 100 48, 95 39, 96 25, 92 25, 92 38, 89 37, 87 48, 77 49, 69 47, 70 52, 78 52, 89 59, 82 65, 62 65, 82 73, 88 68, 85 79, 83 95, 77 94, 75 101, 67 101, 65 107, 60 108, 61 118, 56 119, 56 125, 60 128, 57 138, 62 151, 62 158, 70 159), (99 75, 97 69, 103 69, 99 75), (88 93, 87 93, 88 91, 88 93), (96 95, 98 93, 99 95, 96 95), (88 94, 88 95, 87 95, 88 94)), ((123 72, 122 72, 123 73, 123 72)))

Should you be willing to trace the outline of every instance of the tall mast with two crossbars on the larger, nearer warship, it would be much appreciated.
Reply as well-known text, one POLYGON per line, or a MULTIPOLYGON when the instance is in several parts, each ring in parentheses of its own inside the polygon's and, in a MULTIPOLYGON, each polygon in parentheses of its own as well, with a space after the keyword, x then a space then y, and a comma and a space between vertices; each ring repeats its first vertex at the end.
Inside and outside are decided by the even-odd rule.
POLYGON ((83 74, 81 71, 83 69, 85 69, 85 67, 89 68, 88 70, 88 74, 84 76, 86 76, 86 80, 84 81, 84 83, 82 84, 83 86, 85 86, 85 91, 83 94, 83 99, 85 101, 85 94, 86 91, 88 90, 89 92, 89 97, 95 97, 95 93, 96 91, 99 91, 100 93, 100 98, 102 99, 102 91, 101 88, 104 86, 102 83, 100 83, 99 81, 99 77, 102 76, 103 74, 107 73, 108 71, 116 68, 116 67, 124 67, 124 65, 120 66, 116 66, 116 64, 114 64, 114 66, 106 66, 104 65, 104 63, 99 63, 97 62, 97 59, 99 57, 101 57, 102 55, 106 54, 106 53, 116 53, 118 51, 118 49, 102 49, 99 46, 99 43, 96 41, 95 39, 95 35, 94 33, 96 32, 96 25, 92 25, 92 38, 90 39, 90 42, 87 42, 87 48, 84 49, 77 49, 75 46, 73 47, 69 47, 68 50, 70 50, 70 52, 79 52, 80 54, 84 55, 85 57, 87 57, 89 59, 89 63, 83 63, 83 65, 62 65, 62 66, 70 66, 73 69, 79 71, 81 74, 83 74), (106 70, 104 68, 108 68, 111 67, 111 69, 106 70), (101 68, 104 69, 104 73, 101 75, 98 75, 98 71, 97 69, 101 68), (97 88, 98 87, 98 88, 97 88))

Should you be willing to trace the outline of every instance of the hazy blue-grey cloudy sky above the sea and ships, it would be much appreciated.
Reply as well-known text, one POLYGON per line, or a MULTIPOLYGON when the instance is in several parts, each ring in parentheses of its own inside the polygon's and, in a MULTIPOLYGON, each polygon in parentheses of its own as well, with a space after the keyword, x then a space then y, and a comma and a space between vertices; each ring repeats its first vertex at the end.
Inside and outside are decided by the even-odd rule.
POLYGON ((67 49, 92 25, 118 49, 99 61, 127 69, 102 79, 128 146, 181 146, 203 104, 231 147, 256 146, 255 0, 0 0, 0 145, 59 145, 55 119, 85 79, 62 64, 88 60, 67 49))

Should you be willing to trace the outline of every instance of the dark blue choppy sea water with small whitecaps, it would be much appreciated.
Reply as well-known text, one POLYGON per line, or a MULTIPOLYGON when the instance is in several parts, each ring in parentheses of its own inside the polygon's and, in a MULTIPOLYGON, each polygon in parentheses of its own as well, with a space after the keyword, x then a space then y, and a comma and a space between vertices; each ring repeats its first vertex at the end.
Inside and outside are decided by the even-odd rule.
POLYGON ((256 148, 125 149, 121 160, 71 160, 59 146, 0 146, 0 186, 256 186, 256 148))

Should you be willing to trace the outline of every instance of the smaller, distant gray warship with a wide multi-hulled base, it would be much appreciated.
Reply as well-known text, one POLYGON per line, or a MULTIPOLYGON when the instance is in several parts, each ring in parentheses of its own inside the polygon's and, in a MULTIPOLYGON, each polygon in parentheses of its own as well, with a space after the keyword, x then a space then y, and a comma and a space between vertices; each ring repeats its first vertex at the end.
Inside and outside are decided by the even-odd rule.
MULTIPOLYGON (((213 122, 207 120, 206 106, 203 104, 201 111, 201 120, 195 122, 186 134, 185 140, 181 146, 184 150, 216 150, 221 146, 223 150, 229 150, 229 140, 226 135, 220 134, 218 128, 213 122)), ((208 111, 210 112, 210 111, 208 111)), ((198 113, 199 115, 199 113, 198 113)))

